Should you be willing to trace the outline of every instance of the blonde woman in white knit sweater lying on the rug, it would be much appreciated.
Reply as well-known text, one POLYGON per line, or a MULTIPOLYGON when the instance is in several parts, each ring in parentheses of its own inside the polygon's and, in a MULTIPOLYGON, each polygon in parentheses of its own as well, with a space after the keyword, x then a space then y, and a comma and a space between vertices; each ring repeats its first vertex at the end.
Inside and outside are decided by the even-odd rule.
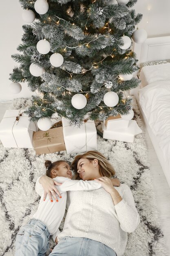
MULTIPOLYGON (((64 228, 50 256, 122 256, 127 232, 140 221, 130 188, 121 184, 115 189, 109 179, 115 170, 97 151, 77 155, 71 166, 82 180, 97 180, 103 188, 68 192, 64 228)), ((49 177, 39 182, 46 192, 55 188, 49 177)))

